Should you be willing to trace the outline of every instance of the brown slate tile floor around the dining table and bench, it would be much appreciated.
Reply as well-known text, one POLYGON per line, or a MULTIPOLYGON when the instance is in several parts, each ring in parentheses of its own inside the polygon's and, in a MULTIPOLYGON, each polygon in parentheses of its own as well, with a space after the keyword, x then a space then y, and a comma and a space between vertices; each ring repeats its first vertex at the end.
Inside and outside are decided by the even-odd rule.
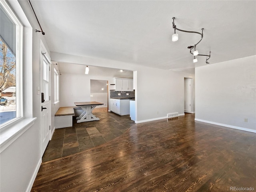
MULTIPOLYGON (((78 116, 78 113, 76 116, 78 116)), ((54 160, 75 154, 95 146, 104 144, 120 135, 134 125, 130 116, 120 116, 108 112, 107 108, 95 108, 93 114, 99 121, 76 123, 73 126, 54 131, 52 140, 48 143, 42 162, 54 160)))

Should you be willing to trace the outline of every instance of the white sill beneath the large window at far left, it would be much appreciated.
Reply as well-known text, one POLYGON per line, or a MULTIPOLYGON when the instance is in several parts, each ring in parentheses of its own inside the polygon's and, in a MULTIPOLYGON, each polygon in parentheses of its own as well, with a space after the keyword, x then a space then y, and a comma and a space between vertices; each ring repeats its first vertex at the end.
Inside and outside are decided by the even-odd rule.
POLYGON ((0 132, 0 153, 2 153, 10 144, 19 138, 28 128, 30 128, 36 118, 26 118, 17 122, 10 128, 0 132))

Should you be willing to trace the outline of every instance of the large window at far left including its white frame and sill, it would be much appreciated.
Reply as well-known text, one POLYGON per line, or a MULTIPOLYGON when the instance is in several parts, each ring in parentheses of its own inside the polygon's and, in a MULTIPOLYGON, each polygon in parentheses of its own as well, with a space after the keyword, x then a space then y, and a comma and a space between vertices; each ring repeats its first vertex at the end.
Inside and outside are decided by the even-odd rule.
MULTIPOLYGON (((4 92, 11 96, 6 105, 0 106, 0 153, 12 142, 19 138, 26 130, 34 125, 33 117, 33 76, 32 76, 32 37, 33 28, 22 10, 18 0, 0 0, 0 38, 2 46, 7 46, 8 53, 15 57, 15 70, 9 70, 12 79, 15 76, 15 86, 6 87, 4 92), (10 5, 10 6, 9 6, 10 5), (11 7, 11 8, 10 8, 11 7), (12 9, 13 8, 13 9, 12 9), (23 35, 26 34, 26 35, 23 35), (12 103, 10 103, 12 102, 12 103), (13 104, 15 103, 15 105, 13 104), (6 110, 7 106, 15 106, 16 110, 6 110), (6 113, 12 113, 5 122, 6 113)), ((14 63, 14 61, 13 61, 14 63)), ((0 58, 0 70, 4 68, 3 54, 0 58)), ((5 68, 0 76, 4 77, 5 68)), ((8 83, 14 82, 9 78, 8 83)), ((2 79, 2 81, 4 78, 2 79)), ((7 81, 6 81, 7 84, 7 81)), ((14 85, 14 84, 13 84, 14 85)), ((5 96, 4 96, 5 97, 5 96)), ((7 97, 7 96, 6 96, 7 97)))

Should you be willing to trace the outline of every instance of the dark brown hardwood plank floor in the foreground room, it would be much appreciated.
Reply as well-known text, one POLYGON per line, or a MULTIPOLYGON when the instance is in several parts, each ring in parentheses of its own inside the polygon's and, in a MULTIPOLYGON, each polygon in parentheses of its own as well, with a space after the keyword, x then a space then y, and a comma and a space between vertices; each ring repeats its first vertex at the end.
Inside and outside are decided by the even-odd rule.
POLYGON ((224 192, 230 187, 256 190, 256 134, 195 122, 194 114, 186 114, 132 124, 104 144, 44 162, 32 191, 224 192))

